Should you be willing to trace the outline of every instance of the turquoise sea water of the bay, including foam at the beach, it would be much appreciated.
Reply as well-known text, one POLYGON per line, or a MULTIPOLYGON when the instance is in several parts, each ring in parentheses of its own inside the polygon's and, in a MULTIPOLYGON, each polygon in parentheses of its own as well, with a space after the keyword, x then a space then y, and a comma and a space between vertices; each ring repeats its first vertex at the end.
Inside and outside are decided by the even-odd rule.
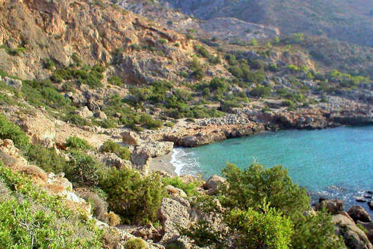
MULTIPOLYGON (((221 174, 227 161, 244 168, 254 161, 283 165, 295 183, 318 197, 343 199, 346 208, 373 190, 373 126, 285 130, 232 138, 197 148, 175 148, 178 174, 221 174)), ((368 199, 367 199, 368 200, 368 199)), ((373 214, 373 210, 369 210, 373 214)))

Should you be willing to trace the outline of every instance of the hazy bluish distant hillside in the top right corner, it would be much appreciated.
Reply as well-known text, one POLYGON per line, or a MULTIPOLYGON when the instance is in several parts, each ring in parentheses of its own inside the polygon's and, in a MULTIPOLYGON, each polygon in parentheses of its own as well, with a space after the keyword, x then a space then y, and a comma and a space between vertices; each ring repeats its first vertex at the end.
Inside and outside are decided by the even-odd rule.
POLYGON ((243 21, 280 28, 281 33, 326 35, 373 46, 373 3, 354 1, 167 1, 173 8, 200 19, 236 17, 243 21))

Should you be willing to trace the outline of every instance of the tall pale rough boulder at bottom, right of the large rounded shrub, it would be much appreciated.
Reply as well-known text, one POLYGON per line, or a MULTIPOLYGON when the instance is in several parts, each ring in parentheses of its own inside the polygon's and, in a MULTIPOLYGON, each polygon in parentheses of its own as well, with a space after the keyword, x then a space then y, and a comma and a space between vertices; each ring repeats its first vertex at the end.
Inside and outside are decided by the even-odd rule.
POLYGON ((180 237, 180 228, 189 227, 191 205, 179 198, 164 198, 160 207, 160 220, 164 231, 161 243, 169 243, 180 237))

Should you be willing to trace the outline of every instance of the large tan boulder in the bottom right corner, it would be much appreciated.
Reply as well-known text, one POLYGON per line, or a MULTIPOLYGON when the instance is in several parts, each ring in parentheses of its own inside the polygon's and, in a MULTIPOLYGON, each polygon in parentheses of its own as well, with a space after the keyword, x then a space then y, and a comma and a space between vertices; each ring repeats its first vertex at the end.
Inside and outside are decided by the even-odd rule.
POLYGON ((346 212, 341 212, 332 217, 336 227, 336 234, 341 235, 345 240, 347 248, 351 249, 373 249, 367 235, 358 228, 354 220, 346 212))

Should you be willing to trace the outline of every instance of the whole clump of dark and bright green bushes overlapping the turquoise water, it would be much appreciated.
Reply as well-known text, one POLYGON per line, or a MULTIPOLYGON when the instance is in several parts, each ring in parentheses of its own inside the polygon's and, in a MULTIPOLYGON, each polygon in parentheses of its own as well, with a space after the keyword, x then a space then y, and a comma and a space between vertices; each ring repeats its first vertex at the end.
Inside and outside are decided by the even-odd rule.
POLYGON ((309 196, 291 182, 286 169, 254 164, 241 170, 228 164, 222 173, 229 187, 220 185, 216 198, 223 209, 211 196, 200 196, 197 203, 204 212, 220 212, 231 230, 217 231, 200 221, 183 231, 198 246, 227 248, 224 238, 233 233, 236 248, 344 248, 331 216, 309 211, 309 196))

